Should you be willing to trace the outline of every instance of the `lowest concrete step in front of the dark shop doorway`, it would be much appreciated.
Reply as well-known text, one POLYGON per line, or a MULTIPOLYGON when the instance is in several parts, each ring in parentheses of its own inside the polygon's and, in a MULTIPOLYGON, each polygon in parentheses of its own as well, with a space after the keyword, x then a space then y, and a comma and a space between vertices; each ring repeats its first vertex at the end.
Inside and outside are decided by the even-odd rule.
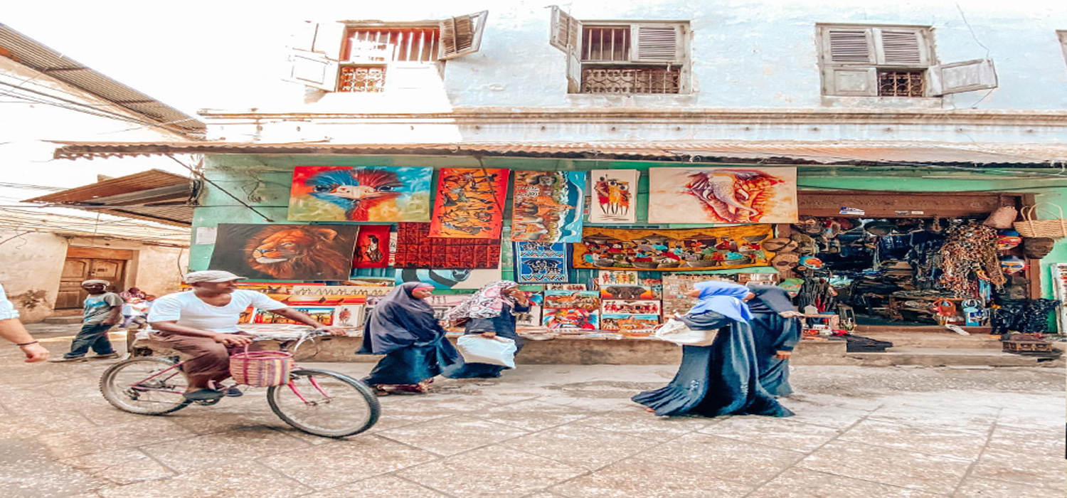
POLYGON ((964 348, 890 348, 883 353, 845 353, 869 367, 888 366, 986 366, 986 367, 1062 367, 1064 359, 1038 362, 1039 358, 990 349, 964 348))

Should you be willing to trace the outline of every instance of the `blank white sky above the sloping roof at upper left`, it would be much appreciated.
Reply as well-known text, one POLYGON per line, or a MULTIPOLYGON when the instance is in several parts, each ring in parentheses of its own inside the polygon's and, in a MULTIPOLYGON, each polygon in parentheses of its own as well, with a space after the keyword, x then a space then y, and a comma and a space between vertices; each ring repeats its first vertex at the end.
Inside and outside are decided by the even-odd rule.
MULTIPOLYGON (((606 0, 586 0, 583 6, 589 9, 599 1, 606 0)), ((721 5, 723 0, 707 1, 721 5)), ((779 1, 847 7, 866 0, 779 1)), ((951 4, 951 0, 911 4, 930 1, 951 4)), ((428 10, 464 14, 490 9, 492 14, 493 5, 499 3, 519 3, 530 11, 553 3, 570 5, 567 0, 403 0, 403 12, 405 17, 415 18, 426 18, 417 16, 428 10)), ((1067 9, 1067 0, 957 3, 965 11, 1067 9)), ((261 106, 270 95, 277 95, 281 85, 289 84, 280 80, 284 46, 299 21, 386 20, 387 12, 397 12, 395 5, 389 0, 32 0, 6 2, 0 10, 0 22, 128 86, 195 114, 200 109, 261 106)), ((907 10, 908 5, 902 2, 901 9, 907 10)))

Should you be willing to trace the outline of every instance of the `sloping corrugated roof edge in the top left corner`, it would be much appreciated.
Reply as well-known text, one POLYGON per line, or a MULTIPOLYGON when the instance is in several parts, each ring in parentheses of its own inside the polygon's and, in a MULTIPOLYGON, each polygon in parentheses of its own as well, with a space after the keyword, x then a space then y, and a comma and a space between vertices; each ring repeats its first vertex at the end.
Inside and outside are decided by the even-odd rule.
POLYGON ((163 128, 194 138, 206 131, 200 119, 85 67, 4 23, 0 23, 0 48, 11 52, 9 57, 19 64, 121 106, 163 128))

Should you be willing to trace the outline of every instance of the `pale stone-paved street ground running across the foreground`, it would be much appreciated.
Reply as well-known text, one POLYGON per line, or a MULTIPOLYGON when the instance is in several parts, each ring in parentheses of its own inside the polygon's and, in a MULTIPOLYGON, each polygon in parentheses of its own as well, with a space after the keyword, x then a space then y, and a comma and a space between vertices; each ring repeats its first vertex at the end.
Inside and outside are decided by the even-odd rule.
POLYGON ((1064 496, 1058 368, 796 367, 796 417, 664 419, 628 398, 672 365, 525 365, 383 397, 375 428, 335 440, 285 425, 264 389, 118 412, 97 390, 112 363, 27 365, 0 347, 0 497, 1064 496))

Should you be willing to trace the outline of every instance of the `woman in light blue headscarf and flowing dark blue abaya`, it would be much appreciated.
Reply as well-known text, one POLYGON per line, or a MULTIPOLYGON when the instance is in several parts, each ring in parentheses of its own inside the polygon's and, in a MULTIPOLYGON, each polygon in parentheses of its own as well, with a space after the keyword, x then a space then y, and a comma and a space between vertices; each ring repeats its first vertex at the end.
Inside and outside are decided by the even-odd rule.
POLYGON ((658 416, 793 415, 760 385, 748 325, 752 315, 742 301, 751 296, 749 289, 728 282, 701 282, 694 287, 689 295, 699 301, 679 320, 695 331, 717 328, 715 341, 683 346, 682 365, 670 384, 633 400, 658 416))

